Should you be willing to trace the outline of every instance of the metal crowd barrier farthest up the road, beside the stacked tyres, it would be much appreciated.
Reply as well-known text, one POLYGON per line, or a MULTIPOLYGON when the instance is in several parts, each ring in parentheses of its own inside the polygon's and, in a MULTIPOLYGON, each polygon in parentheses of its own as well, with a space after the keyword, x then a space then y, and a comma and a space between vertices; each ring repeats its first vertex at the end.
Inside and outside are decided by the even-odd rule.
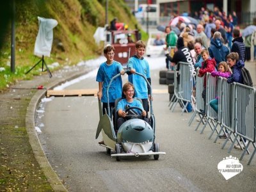
POLYGON ((177 103, 182 106, 182 113, 186 111, 186 107, 191 103, 191 95, 193 93, 194 82, 194 66, 190 63, 179 62, 175 68, 174 76, 174 94, 170 103, 170 109, 174 111, 177 103), (177 70, 178 69, 178 70, 177 70))

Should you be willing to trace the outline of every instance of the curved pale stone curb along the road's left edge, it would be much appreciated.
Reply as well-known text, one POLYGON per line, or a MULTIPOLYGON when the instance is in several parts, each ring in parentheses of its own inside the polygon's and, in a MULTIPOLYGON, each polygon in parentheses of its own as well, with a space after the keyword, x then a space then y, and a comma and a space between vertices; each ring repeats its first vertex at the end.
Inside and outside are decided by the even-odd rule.
MULTIPOLYGON (((90 70, 87 69, 81 72, 76 72, 74 74, 71 74, 66 78, 57 79, 56 81, 53 81, 52 83, 47 84, 47 88, 52 89, 61 83, 65 83, 66 81, 75 79, 76 77, 82 76, 88 73, 89 71, 90 70)), ((27 112, 26 112, 26 130, 28 132, 29 143, 33 150, 36 161, 38 161, 38 164, 40 165, 40 168, 44 172, 45 177, 47 178, 47 181, 49 182, 49 184, 51 184, 52 189, 54 191, 67 191, 67 189, 65 188, 65 186, 63 186, 63 183, 61 182, 56 172, 54 172, 54 170, 52 169, 51 164, 49 163, 47 157, 45 156, 44 150, 42 148, 42 145, 40 143, 40 140, 35 130, 36 109, 40 104, 40 100, 43 97, 45 97, 46 92, 47 90, 38 90, 35 93, 35 95, 33 95, 33 97, 31 98, 27 108, 27 112)))

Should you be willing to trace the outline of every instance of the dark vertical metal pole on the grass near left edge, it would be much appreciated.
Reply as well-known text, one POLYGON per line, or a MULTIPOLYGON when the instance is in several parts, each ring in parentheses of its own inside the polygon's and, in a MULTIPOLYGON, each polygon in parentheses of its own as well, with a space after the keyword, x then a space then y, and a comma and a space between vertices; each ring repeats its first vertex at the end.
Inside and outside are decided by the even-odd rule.
POLYGON ((15 72, 15 0, 12 0, 11 71, 15 72))

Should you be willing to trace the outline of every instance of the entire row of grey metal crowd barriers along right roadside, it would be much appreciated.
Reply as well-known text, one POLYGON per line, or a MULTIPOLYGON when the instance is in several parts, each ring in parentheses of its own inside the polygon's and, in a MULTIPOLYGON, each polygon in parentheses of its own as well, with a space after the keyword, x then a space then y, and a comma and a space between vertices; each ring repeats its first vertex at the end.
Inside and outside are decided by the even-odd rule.
POLYGON ((193 76, 195 76, 195 72, 191 69, 189 63, 178 63, 177 68, 175 69, 175 94, 170 100, 170 109, 174 111, 175 106, 179 102, 183 113, 186 110, 186 106, 195 100, 196 104, 193 107, 194 112, 189 120, 189 125, 191 125, 196 114, 198 114, 200 116, 200 122, 196 126, 195 131, 200 124, 204 124, 202 133, 205 127, 209 125, 212 130, 209 139, 211 139, 214 132, 217 134, 214 142, 218 140, 220 134, 226 134, 227 138, 221 148, 224 148, 230 140, 232 144, 228 149, 229 153, 237 142, 241 150, 243 150, 240 160, 243 159, 246 152, 250 154, 248 147, 252 143, 254 149, 248 161, 248 164, 250 164, 256 153, 255 88, 240 83, 228 84, 227 79, 223 77, 212 77, 211 74, 207 73, 205 74, 207 76, 205 113, 202 113, 200 109, 204 109, 204 100, 202 99, 204 77, 196 76, 196 98, 193 99, 193 76), (218 99, 218 113, 210 106, 212 99, 218 99), (204 119, 206 119, 206 122, 204 119), (218 130, 219 127, 220 131, 218 130), (239 141, 243 142, 244 147, 239 141))

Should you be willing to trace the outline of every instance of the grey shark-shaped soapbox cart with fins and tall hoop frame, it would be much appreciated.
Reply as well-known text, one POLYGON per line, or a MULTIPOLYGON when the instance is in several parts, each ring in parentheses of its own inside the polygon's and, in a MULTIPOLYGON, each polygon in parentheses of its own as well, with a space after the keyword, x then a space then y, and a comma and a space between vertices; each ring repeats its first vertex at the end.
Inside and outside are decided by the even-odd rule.
MULTIPOLYGON (((130 70, 125 70, 125 73, 130 72, 130 70)), ((141 76, 147 82, 148 88, 150 88, 150 94, 152 95, 152 89, 150 83, 148 83, 147 78, 142 74, 135 72, 136 76, 141 76)), ((150 118, 148 123, 140 119, 140 115, 127 115, 129 120, 125 121, 124 124, 120 126, 116 134, 114 127, 116 127, 116 122, 118 114, 116 113, 116 106, 120 99, 116 99, 115 108, 109 109, 109 87, 113 80, 119 77, 120 74, 112 77, 109 82, 107 89, 108 98, 108 111, 102 115, 102 105, 99 100, 99 113, 100 121, 97 127, 96 139, 99 137, 100 132, 102 132, 102 138, 104 144, 100 144, 106 147, 107 153, 111 154, 111 150, 115 151, 115 154, 111 154, 112 157, 116 157, 116 161, 120 161, 121 157, 124 156, 154 156, 155 160, 159 159, 160 154, 166 154, 165 152, 159 152, 159 143, 155 142, 155 131, 156 131, 156 121, 152 109, 152 100, 150 99, 150 118), (115 113, 115 118, 113 118, 113 113, 115 113), (112 120, 113 119, 113 120, 112 120)), ((136 88, 135 88, 136 89, 136 88)), ((136 98, 134 98, 136 99, 136 98)), ((139 99, 140 100, 140 99, 139 99)), ((136 107, 127 108, 125 112, 130 111, 136 107)), ((141 110, 140 108, 136 108, 141 110)))

